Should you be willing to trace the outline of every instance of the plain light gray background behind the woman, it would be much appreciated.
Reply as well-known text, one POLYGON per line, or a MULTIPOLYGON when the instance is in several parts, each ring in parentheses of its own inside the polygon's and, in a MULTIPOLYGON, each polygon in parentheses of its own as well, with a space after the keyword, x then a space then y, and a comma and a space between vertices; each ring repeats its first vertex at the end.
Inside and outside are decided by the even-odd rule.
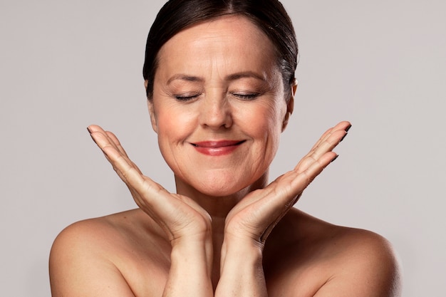
MULTIPOLYGON (((173 190, 141 75, 164 1, 0 1, 0 292, 49 296, 63 227, 135 207, 85 127, 114 131, 173 190)), ((340 157, 297 204, 387 237, 404 296, 443 296, 445 1, 284 0, 301 49, 299 88, 271 177, 327 127, 351 120, 340 157)))

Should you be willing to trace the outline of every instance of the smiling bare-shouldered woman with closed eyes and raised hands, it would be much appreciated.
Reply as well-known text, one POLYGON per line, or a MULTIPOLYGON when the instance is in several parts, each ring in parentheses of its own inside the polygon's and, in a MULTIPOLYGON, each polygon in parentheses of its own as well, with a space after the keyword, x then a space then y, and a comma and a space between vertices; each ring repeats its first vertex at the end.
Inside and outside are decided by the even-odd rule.
POLYGON ((268 184, 294 107, 297 44, 275 0, 172 0, 147 38, 152 128, 177 193, 88 127, 139 208, 78 222, 50 259, 53 296, 398 296, 385 239, 292 206, 351 126, 268 184))

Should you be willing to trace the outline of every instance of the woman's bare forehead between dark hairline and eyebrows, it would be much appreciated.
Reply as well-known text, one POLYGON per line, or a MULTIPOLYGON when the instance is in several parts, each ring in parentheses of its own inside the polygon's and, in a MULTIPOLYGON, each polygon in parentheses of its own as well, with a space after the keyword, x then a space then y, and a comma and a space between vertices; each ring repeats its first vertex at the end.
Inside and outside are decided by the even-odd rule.
POLYGON ((222 16, 173 36, 158 53, 159 70, 186 71, 209 65, 220 71, 261 71, 276 65, 274 45, 244 16, 222 16))

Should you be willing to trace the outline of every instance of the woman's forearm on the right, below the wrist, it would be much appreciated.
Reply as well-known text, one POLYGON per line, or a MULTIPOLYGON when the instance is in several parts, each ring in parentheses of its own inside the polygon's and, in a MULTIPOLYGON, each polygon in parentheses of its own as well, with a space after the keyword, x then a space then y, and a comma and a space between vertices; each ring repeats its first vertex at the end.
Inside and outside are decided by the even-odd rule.
POLYGON ((220 271, 216 297, 267 296, 261 244, 225 239, 220 271))

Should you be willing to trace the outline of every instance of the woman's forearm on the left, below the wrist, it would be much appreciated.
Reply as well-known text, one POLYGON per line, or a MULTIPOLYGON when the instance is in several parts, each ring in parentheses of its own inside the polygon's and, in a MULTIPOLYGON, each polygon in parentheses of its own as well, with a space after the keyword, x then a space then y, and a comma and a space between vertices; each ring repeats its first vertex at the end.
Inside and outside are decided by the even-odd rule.
POLYGON ((172 246, 163 297, 212 297, 212 243, 184 241, 172 246))

